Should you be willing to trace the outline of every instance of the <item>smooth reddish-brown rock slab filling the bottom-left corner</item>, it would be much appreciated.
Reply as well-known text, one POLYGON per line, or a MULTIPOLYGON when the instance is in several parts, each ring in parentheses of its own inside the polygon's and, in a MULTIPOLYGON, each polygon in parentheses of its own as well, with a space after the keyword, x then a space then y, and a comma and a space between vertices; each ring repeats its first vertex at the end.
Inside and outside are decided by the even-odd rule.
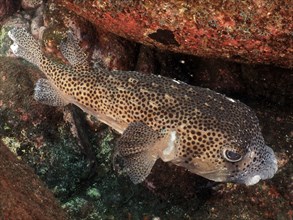
POLYGON ((2 141, 0 176, 1 219, 67 219, 52 192, 2 141))

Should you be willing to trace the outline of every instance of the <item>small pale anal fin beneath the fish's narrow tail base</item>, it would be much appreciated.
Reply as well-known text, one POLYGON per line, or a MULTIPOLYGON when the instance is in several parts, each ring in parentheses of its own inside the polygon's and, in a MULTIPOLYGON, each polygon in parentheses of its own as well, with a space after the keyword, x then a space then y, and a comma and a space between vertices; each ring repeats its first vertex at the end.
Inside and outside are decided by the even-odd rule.
POLYGON ((47 79, 39 79, 37 81, 34 98, 38 102, 51 106, 65 106, 68 104, 47 79))

